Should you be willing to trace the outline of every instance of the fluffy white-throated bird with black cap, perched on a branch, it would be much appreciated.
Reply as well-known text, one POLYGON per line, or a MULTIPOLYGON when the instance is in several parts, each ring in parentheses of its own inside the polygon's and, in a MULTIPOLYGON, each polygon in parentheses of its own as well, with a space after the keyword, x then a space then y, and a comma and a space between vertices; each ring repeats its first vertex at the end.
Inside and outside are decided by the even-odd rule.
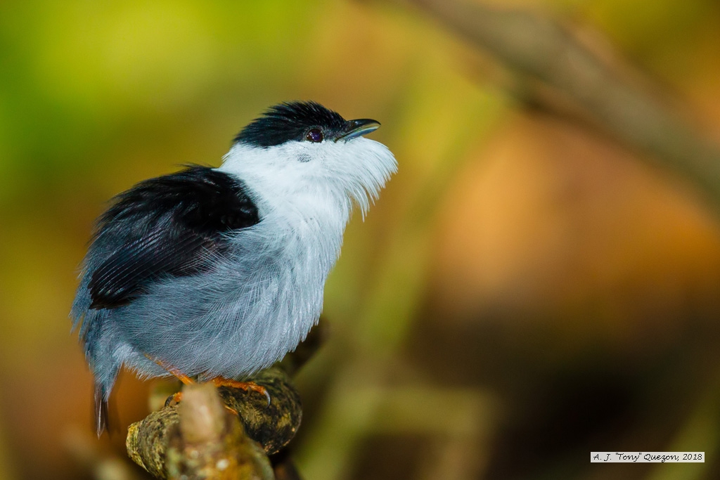
POLYGON ((99 217, 71 310, 95 378, 98 435, 120 368, 241 379, 318 322, 354 206, 397 169, 379 127, 315 102, 278 104, 222 166, 141 181, 99 217))

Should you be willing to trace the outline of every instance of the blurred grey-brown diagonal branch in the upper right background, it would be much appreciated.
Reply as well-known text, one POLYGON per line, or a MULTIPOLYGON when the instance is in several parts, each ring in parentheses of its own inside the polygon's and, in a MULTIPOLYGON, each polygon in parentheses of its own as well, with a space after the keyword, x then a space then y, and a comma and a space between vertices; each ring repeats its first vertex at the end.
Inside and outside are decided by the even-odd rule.
POLYGON ((654 155, 662 166, 682 174, 720 204, 719 145, 698 133, 652 89, 631 81, 624 68, 601 59, 558 22, 536 12, 478 2, 410 3, 516 73, 581 107, 618 140, 654 155))

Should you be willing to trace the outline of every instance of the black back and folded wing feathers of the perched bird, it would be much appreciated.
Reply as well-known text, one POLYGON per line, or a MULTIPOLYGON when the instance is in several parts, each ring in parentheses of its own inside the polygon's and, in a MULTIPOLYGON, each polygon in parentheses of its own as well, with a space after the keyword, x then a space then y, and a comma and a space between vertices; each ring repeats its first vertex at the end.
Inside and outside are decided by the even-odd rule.
POLYGON ((90 272, 91 308, 120 307, 153 280, 206 270, 228 246, 224 233, 258 222, 243 182, 210 167, 140 182, 99 219, 90 255, 104 257, 90 272))

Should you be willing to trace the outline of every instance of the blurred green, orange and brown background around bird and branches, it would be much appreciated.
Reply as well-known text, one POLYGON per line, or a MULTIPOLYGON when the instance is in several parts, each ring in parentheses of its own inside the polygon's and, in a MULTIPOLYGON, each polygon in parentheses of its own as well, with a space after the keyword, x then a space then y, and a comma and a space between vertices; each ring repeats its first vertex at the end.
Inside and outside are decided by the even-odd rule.
MULTIPOLYGON (((720 137, 716 1, 495 4, 615 50, 720 137)), ((720 478, 720 209, 512 75, 391 1, 0 2, 0 479, 143 478, 122 431, 150 386, 122 376, 94 440, 69 332, 92 222, 292 99, 378 119, 399 163, 297 379, 306 479, 720 478)))

